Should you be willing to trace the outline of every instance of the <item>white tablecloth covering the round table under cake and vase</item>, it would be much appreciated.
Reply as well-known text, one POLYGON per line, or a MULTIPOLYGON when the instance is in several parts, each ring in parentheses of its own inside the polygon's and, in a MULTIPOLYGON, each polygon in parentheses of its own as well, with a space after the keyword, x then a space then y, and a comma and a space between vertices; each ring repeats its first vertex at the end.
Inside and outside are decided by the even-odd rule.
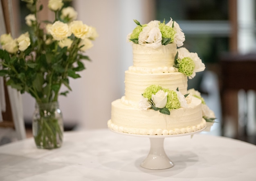
POLYGON ((175 164, 148 170, 148 138, 110 130, 65 132, 63 146, 40 150, 25 139, 0 146, 0 181, 256 181, 256 146, 196 134, 164 139, 175 164))

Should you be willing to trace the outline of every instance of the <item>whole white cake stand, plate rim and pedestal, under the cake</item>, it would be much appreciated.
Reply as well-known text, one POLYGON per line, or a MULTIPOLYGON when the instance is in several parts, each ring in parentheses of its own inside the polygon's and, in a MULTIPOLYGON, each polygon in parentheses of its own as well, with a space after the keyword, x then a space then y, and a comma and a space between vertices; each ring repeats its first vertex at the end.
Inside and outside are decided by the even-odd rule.
POLYGON ((142 134, 129 134, 124 132, 117 132, 110 129, 112 132, 123 134, 127 136, 137 136, 137 137, 146 137, 150 139, 150 151, 148 156, 142 163, 141 167, 151 170, 162 170, 167 168, 172 168, 174 166, 173 162, 168 158, 164 151, 164 139, 168 137, 178 137, 178 136, 188 136, 202 132, 205 127, 201 130, 183 133, 183 134, 171 134, 171 135, 142 135, 142 134))

